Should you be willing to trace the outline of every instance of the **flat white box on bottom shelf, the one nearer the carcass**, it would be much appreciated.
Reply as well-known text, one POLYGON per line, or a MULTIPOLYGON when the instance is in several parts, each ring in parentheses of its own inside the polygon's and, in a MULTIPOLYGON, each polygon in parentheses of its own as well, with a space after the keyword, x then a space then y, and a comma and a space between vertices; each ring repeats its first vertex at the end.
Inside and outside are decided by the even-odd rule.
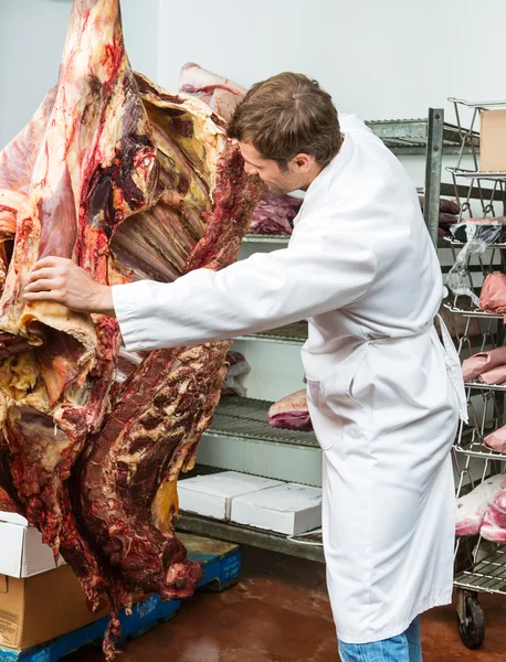
POLYGON ((230 520, 231 503, 235 496, 282 484, 280 480, 238 471, 197 476, 178 482, 179 508, 215 520, 230 520))

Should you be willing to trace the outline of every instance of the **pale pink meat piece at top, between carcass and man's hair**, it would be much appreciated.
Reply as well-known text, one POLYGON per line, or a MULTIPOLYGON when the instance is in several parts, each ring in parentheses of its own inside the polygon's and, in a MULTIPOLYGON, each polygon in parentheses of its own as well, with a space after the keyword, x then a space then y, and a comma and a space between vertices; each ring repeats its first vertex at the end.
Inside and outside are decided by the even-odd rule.
POLYGON ((238 83, 213 74, 193 62, 181 68, 179 90, 199 97, 226 121, 246 93, 238 83))

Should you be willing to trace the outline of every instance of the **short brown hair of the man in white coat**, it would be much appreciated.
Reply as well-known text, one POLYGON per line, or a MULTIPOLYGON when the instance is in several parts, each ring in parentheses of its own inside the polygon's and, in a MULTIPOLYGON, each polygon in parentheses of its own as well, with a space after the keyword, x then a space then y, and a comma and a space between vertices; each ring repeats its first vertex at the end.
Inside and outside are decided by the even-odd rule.
POLYGON ((285 72, 253 85, 240 102, 228 134, 252 142, 266 159, 286 168, 297 153, 325 167, 339 151, 337 110, 317 81, 285 72))

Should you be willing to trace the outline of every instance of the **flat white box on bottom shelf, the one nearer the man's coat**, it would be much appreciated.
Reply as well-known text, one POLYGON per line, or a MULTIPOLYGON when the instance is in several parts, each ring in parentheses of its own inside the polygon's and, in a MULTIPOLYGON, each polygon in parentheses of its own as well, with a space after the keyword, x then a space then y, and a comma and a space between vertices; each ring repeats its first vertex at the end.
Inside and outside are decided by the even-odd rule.
POLYGON ((298 535, 321 526, 321 490, 287 483, 232 501, 232 522, 298 535))

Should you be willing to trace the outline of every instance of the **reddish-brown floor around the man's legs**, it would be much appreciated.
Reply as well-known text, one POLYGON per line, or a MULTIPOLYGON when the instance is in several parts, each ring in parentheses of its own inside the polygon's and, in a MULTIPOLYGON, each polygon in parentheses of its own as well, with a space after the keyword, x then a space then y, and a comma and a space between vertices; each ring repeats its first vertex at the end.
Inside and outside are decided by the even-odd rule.
MULTIPOLYGON (((422 619, 424 662, 504 662, 506 597, 484 596, 486 638, 468 651, 454 607, 422 619)), ((243 548, 243 574, 223 594, 199 592, 176 617, 128 642, 118 662, 338 662, 320 564, 243 548)), ((103 662, 85 649, 65 662, 103 662)))

